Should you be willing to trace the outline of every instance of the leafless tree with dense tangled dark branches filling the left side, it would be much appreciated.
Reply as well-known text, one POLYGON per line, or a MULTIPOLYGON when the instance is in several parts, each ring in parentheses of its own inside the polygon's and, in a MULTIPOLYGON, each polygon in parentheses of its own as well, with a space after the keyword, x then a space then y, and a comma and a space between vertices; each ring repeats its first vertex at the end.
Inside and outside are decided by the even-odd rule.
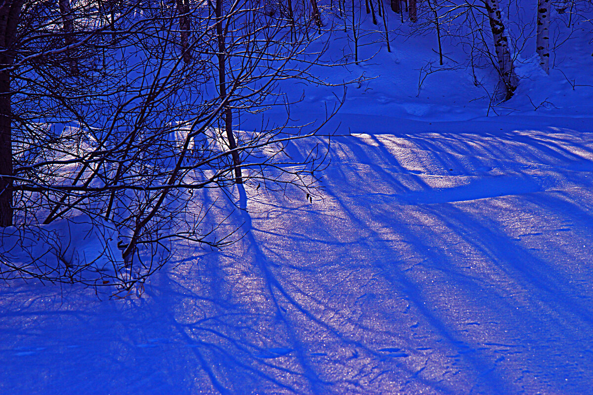
POLYGON ((318 127, 264 117, 286 105, 276 81, 315 79, 308 70, 321 53, 308 54, 304 34, 288 40, 294 26, 251 0, 183 2, 184 14, 178 2, 80 2, 71 4, 76 30, 66 45, 54 1, 0 7, 8 21, 0 25, 1 225, 16 226, 31 252, 33 239, 56 245, 48 227, 84 217, 106 246, 117 238, 120 255, 99 251, 110 255, 107 267, 65 250, 52 262, 7 252, 3 278, 130 290, 177 242, 232 241, 216 233, 225 216, 209 217, 206 191, 242 182, 314 193, 323 151, 299 161, 285 147, 318 127), (176 25, 188 32, 181 53, 176 25), (243 130, 243 117, 262 118, 262 127, 243 130))

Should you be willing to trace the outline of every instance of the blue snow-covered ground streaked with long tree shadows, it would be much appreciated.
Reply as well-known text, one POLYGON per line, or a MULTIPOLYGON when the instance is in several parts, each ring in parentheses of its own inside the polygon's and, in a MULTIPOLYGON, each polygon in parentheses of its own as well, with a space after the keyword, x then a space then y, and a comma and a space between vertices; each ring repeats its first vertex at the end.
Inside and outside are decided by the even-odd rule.
MULTIPOLYGON (((431 36, 326 70, 372 79, 349 86, 324 129, 337 136, 320 197, 231 191, 247 211, 229 227, 245 237, 178 250, 139 295, 5 283, 0 393, 589 393, 586 34, 557 50, 549 76, 526 49, 515 97, 490 109, 466 69, 433 73, 416 97, 431 36)), ((495 85, 486 70, 483 81, 495 85)), ((295 124, 341 97, 285 89, 305 89, 295 124)), ((327 139, 289 149, 298 159, 327 139)), ((224 194, 204 193, 224 210, 224 194)))

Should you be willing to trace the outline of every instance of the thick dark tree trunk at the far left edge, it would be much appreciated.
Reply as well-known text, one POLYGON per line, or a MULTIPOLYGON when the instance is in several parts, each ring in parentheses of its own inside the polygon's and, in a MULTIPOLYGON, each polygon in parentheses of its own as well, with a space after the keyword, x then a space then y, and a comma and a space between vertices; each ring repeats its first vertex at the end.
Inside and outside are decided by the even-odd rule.
POLYGON ((14 224, 12 208, 12 110, 9 73, 10 53, 24 0, 5 0, 0 4, 0 227, 14 224))

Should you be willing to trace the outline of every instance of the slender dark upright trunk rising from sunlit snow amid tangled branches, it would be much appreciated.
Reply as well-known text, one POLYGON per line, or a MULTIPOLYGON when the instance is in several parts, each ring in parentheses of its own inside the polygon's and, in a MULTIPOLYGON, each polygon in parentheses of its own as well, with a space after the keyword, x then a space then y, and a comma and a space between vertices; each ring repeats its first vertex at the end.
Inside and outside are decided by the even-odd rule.
POLYGON ((243 175, 241 174, 241 159, 237 152, 237 142, 235 142, 235 136, 232 133, 232 111, 228 104, 227 97, 227 60, 225 54, 227 52, 227 46, 225 43, 224 31, 222 29, 222 0, 216 0, 216 36, 218 38, 218 89, 220 92, 221 99, 227 101, 227 104, 222 108, 222 115, 224 117, 225 132, 227 133, 228 147, 232 150, 232 162, 235 168, 235 182, 237 184, 243 184, 243 175))

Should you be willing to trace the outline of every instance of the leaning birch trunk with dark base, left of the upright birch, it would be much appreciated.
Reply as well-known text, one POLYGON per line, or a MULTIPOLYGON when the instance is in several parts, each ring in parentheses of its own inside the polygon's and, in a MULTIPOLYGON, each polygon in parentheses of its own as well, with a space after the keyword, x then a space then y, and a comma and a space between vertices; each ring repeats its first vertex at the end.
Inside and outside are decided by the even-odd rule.
POLYGON ((508 100, 517 88, 519 80, 513 68, 513 61, 509 52, 508 39, 505 36, 505 25, 502 23, 498 0, 486 0, 485 4, 490 20, 490 28, 492 29, 492 37, 494 38, 500 79, 506 89, 505 99, 508 100))

